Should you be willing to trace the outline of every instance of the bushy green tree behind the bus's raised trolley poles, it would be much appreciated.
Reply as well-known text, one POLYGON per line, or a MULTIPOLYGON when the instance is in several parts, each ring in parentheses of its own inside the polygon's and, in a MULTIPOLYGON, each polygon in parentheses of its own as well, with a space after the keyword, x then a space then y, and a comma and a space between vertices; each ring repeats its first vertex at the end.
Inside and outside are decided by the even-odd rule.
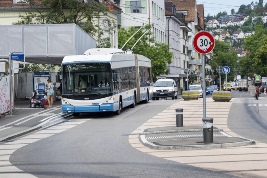
MULTIPOLYGON (((150 25, 146 25, 143 30, 140 30, 128 43, 125 45, 124 50, 131 49, 134 43, 144 34, 144 32, 150 28, 150 25)), ((127 30, 121 28, 118 30, 118 46, 121 48, 124 43, 137 31, 136 28, 131 27, 127 30)), ((135 54, 141 54, 151 60, 153 80, 156 80, 156 76, 160 74, 168 74, 168 63, 172 62, 173 53, 169 52, 169 45, 165 43, 157 43, 154 38, 149 38, 151 32, 143 36, 141 40, 136 44, 133 51, 135 54), (155 43, 150 45, 150 43, 155 43)))

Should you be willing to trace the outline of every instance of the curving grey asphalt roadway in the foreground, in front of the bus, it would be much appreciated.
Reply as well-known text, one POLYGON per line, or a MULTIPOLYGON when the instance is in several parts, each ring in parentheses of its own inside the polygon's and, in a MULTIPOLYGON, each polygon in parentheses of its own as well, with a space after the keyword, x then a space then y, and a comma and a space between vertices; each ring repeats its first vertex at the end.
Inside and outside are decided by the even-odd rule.
POLYGON ((150 101, 93 118, 15 151, 10 162, 37 177, 233 177, 140 152, 128 136, 178 100, 150 101))

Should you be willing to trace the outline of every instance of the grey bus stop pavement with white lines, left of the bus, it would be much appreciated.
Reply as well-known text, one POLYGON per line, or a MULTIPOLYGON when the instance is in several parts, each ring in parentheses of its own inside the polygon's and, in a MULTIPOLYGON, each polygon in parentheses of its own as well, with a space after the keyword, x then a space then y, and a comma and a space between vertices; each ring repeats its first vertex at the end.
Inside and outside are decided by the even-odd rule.
POLYGON ((13 139, 48 125, 62 122, 70 114, 63 114, 61 102, 54 102, 52 109, 30 108, 29 100, 15 101, 15 115, 0 119, 0 142, 13 139))

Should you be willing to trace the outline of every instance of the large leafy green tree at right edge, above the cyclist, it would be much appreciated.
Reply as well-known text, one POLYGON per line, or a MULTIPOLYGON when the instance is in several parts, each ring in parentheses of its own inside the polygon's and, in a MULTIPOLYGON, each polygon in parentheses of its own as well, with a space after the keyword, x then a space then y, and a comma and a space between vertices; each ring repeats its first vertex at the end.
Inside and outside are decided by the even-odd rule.
POLYGON ((245 50, 249 54, 240 59, 239 65, 245 75, 252 76, 259 71, 261 76, 267 76, 267 30, 262 25, 255 26, 255 34, 246 38, 245 50))

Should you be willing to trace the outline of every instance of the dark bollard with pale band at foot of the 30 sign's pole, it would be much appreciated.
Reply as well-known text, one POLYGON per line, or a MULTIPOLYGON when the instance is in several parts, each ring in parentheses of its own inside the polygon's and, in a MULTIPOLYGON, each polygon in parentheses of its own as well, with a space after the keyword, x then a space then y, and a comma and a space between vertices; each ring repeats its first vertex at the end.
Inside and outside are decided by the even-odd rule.
POLYGON ((202 121, 203 121, 204 143, 212 143, 213 142, 213 118, 204 117, 202 121))

